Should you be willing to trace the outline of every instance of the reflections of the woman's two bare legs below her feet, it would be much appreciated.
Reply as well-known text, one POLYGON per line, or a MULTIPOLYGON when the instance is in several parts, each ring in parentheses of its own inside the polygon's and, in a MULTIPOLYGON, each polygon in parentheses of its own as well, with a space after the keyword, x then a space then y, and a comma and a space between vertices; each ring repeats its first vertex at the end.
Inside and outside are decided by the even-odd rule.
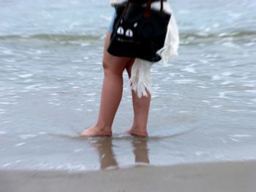
MULTIPOLYGON (((131 139, 136 164, 149 164, 148 139, 134 137, 131 139)), ((113 153, 112 138, 95 138, 90 142, 99 155, 100 169, 118 168, 116 155, 113 153)))

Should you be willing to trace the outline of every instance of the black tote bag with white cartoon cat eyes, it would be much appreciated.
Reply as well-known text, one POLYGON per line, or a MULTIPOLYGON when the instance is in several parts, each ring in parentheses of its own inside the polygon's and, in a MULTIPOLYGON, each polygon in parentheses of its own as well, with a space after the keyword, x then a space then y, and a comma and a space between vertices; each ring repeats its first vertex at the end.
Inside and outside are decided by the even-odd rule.
POLYGON ((138 4, 121 4, 116 7, 116 19, 110 38, 108 53, 119 57, 142 58, 157 62, 157 54, 165 44, 167 26, 171 15, 161 9, 151 9, 151 0, 146 7, 138 4))

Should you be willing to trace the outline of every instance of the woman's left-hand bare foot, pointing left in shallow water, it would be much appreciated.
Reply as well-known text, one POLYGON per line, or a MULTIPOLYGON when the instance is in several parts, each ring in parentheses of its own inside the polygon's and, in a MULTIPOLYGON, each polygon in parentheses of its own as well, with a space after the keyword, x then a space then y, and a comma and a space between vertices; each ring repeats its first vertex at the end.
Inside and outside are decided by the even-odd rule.
POLYGON ((112 131, 108 128, 100 128, 98 126, 91 126, 90 128, 86 128, 83 132, 81 132, 81 136, 83 137, 111 137, 112 131))

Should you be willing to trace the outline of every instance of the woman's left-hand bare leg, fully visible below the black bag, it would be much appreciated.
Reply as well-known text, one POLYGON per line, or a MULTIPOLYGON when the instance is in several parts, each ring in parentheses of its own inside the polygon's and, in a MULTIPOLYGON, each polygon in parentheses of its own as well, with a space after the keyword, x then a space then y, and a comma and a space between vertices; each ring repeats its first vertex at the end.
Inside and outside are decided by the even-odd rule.
POLYGON ((104 80, 97 123, 81 133, 85 137, 111 136, 112 124, 123 93, 123 72, 130 58, 110 55, 107 51, 110 33, 106 35, 103 68, 104 80))

